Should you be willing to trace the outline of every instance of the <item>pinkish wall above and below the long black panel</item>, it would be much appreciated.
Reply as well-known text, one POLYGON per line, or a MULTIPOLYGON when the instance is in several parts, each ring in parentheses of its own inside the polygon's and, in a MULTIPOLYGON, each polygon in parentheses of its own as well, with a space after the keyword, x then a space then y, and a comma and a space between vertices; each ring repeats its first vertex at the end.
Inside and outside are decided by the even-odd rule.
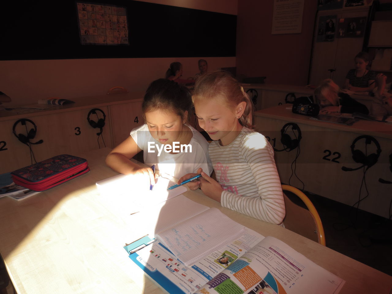
MULTIPOLYGON (((237 13, 237 0, 143 1, 218 13, 237 13)), ((190 35, 189 38, 202 42, 198 34, 190 35)), ((159 44, 156 49, 159 50, 159 44)), ((53 96, 72 99, 103 95, 114 86, 139 92, 145 91, 153 80, 163 78, 174 61, 183 64, 183 78, 193 77, 199 71, 197 61, 200 58, 207 60, 210 70, 236 64, 235 56, 0 61, 0 91, 11 97, 13 105, 36 103, 38 99, 53 96)))

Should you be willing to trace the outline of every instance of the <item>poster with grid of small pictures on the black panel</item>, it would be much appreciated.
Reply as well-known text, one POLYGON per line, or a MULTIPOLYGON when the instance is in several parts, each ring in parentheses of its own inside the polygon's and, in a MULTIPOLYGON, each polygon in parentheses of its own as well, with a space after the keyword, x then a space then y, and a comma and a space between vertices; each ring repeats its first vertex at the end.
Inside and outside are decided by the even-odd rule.
POLYGON ((82 45, 129 45, 125 7, 83 2, 76 5, 82 45))

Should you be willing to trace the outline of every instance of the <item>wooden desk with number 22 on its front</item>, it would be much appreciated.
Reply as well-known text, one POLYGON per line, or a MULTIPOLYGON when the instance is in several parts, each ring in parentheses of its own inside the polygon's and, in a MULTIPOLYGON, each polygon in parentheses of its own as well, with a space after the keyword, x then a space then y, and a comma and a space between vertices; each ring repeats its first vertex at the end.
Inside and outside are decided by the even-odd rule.
MULTIPOLYGON (((367 120, 359 120, 352 126, 318 122, 310 120, 309 116, 292 113, 291 106, 291 104, 279 105, 256 111, 254 123, 256 130, 264 136, 269 136, 270 143, 278 150, 283 149, 280 141, 283 125, 288 122, 298 124, 302 132, 302 140, 301 152, 296 160, 296 174, 305 183, 305 190, 353 205, 358 200, 363 172, 362 169, 342 171, 341 167, 361 166, 352 159, 350 146, 358 136, 373 136, 381 145, 381 154, 377 163, 366 173, 369 196, 361 201, 359 208, 388 218, 391 201, 390 185, 379 183, 378 179, 392 180, 388 158, 392 153, 392 124, 367 120), (287 107, 290 109, 286 109, 287 107)), ((287 134, 295 139, 291 127, 287 134)), ((365 140, 359 141, 355 149, 365 154, 365 140)), ((275 152, 279 176, 284 183, 289 183, 292 173, 291 163, 296 157, 296 152, 297 149, 290 152, 275 152)), ((374 143, 368 145, 367 154, 375 152, 374 143)), ((290 183, 302 188, 302 184, 295 176, 290 183)), ((362 191, 361 198, 365 195, 365 191, 362 191)))

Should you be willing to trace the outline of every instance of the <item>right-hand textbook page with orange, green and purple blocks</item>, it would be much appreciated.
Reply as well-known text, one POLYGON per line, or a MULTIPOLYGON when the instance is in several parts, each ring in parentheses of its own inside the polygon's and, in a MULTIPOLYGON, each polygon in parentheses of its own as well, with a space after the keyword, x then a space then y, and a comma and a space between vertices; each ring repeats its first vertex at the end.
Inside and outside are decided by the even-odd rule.
POLYGON ((344 283, 282 241, 266 237, 196 293, 336 294, 344 283))

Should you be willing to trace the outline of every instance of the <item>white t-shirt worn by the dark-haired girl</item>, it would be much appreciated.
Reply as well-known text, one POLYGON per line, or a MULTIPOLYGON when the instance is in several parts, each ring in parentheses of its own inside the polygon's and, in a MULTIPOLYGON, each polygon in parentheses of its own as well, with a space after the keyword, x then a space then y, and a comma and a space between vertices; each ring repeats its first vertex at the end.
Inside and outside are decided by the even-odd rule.
POLYGON ((189 142, 189 145, 192 147, 192 152, 190 152, 189 147, 186 149, 183 148, 183 152, 174 154, 167 153, 162 149, 162 152, 158 156, 159 151, 155 144, 161 148, 162 143, 152 138, 147 124, 133 129, 131 131, 131 136, 138 147, 144 151, 144 163, 147 165, 156 164, 156 169, 160 171, 160 174, 168 174, 169 176, 179 179, 185 174, 191 172, 195 173, 199 167, 201 167, 205 173, 211 174, 213 169, 208 155, 209 144, 207 140, 205 140, 203 135, 193 127, 189 125, 187 125, 187 127, 192 131, 192 139, 189 142), (152 142, 150 144, 154 146, 154 148, 151 148, 151 151, 154 152, 148 152, 148 142, 152 142))

